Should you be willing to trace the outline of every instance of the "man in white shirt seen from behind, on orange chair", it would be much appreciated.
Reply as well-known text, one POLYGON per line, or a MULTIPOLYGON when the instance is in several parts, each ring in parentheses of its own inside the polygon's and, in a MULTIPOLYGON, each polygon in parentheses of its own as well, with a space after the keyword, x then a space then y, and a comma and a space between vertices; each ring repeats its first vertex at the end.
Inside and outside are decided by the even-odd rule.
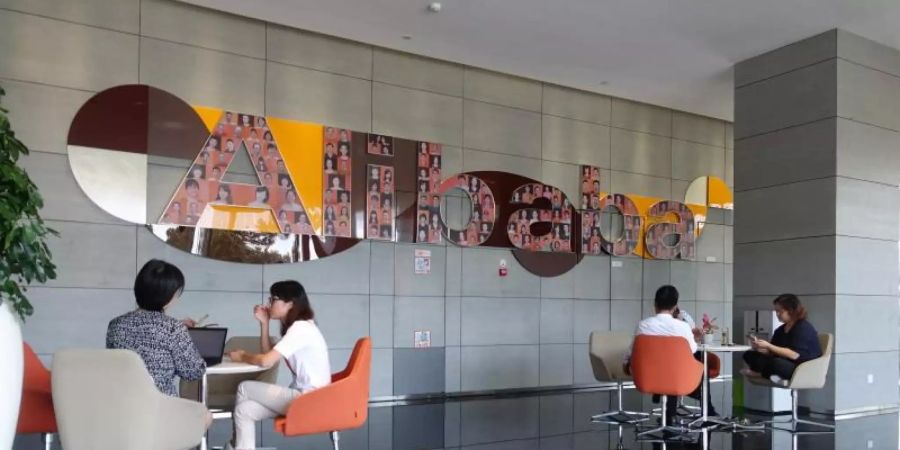
MULTIPOLYGON (((674 317, 676 315, 676 311, 679 311, 678 289, 675 289, 675 286, 670 285, 665 285, 657 289, 653 304, 656 307, 656 315, 653 317, 648 317, 638 323, 634 335, 683 337, 684 340, 687 341, 688 346, 690 346, 691 353, 694 354, 694 358, 696 358, 698 361, 702 361, 703 354, 697 351, 697 333, 695 332, 695 330, 691 329, 691 326, 688 325, 687 322, 674 317)), ((633 346, 634 344, 632 343, 632 347, 633 346)), ((628 349, 628 353, 625 355, 625 373, 628 374, 631 374, 630 359, 631 348, 628 349)), ((707 380, 707 392, 709 392, 708 383, 709 380, 707 380)), ((699 400, 700 394, 700 385, 698 384, 697 389, 695 389, 694 392, 690 394, 690 397, 699 400)), ((654 396, 654 400, 656 400, 657 398, 657 396, 654 396)), ((712 405, 712 398, 709 397, 707 400, 707 411, 709 412, 709 415, 717 416, 718 414, 716 413, 716 409, 712 405)), ((675 418, 677 407, 678 398, 670 396, 665 405, 666 422, 674 423, 672 422, 672 420, 675 418)))

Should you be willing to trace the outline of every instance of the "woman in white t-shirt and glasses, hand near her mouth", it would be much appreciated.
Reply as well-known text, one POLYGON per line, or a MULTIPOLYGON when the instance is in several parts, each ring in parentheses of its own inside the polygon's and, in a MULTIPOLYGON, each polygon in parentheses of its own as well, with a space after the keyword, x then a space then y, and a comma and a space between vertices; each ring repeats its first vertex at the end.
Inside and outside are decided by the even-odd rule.
POLYGON ((269 304, 257 305, 253 315, 259 321, 262 353, 230 352, 232 361, 272 367, 283 358, 293 374, 289 387, 259 381, 238 386, 234 406, 234 442, 229 448, 256 448, 256 422, 284 414, 300 394, 331 383, 328 346, 313 321, 306 290, 296 281, 279 281, 269 288, 269 304), (281 322, 281 340, 269 342, 269 321, 281 322), (232 447, 233 445, 233 447, 232 447))

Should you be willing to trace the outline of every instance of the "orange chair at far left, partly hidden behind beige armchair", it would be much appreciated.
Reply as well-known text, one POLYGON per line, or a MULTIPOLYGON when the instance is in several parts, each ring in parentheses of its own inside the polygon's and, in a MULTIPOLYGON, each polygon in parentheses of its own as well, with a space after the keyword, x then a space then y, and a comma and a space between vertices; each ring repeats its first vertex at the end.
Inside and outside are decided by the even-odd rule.
POLYGON ((22 379, 22 403, 19 406, 16 434, 41 433, 44 448, 49 450, 53 445, 53 433, 57 432, 50 391, 50 371, 44 367, 30 345, 24 344, 23 353, 25 375, 22 379))

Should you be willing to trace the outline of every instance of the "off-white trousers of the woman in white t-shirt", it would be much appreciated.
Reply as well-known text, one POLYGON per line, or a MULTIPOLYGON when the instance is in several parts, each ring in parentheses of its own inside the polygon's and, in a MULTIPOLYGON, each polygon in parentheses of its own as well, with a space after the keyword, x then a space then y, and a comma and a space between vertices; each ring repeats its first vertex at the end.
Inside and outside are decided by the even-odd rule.
POLYGON ((256 448, 256 422, 283 415, 300 391, 259 381, 238 386, 234 404, 235 450, 256 448))

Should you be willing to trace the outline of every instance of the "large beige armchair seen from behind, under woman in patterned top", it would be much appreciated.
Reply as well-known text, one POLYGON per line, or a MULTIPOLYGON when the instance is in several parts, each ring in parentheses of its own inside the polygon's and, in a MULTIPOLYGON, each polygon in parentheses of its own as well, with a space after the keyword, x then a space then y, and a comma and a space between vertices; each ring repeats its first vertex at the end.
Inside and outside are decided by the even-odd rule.
POLYGON ((206 408, 159 392, 130 350, 61 350, 51 376, 66 450, 183 450, 206 432, 206 408))

